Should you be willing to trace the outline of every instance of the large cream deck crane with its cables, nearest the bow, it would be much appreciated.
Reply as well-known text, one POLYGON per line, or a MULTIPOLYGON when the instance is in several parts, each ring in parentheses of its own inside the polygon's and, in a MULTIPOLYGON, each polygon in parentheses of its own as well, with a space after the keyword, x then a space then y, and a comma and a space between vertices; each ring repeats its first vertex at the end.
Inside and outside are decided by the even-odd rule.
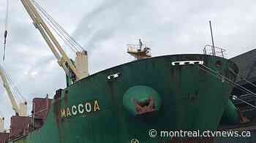
MULTIPOLYGON (((46 21, 46 20, 49 20, 50 18, 46 17, 48 19, 46 20, 44 19, 45 18, 44 14, 46 13, 46 15, 48 15, 48 13, 44 12, 43 11, 44 9, 42 9, 42 7, 38 7, 38 3, 34 0, 20 0, 20 1, 25 7, 26 12, 29 13, 29 16, 33 20, 34 26, 42 34, 43 38, 45 39, 45 42, 47 42, 48 44, 48 47, 50 47, 50 50, 53 52, 53 54, 57 58, 59 66, 61 66, 64 69, 67 75, 67 86, 71 85, 73 82, 76 82, 84 77, 87 77, 89 75, 89 72, 88 72, 88 56, 87 56, 86 50, 83 50, 83 48, 81 48, 82 50, 77 50, 75 62, 72 61, 64 52, 63 48, 59 44, 56 37, 53 35, 52 31, 50 31, 50 28, 48 28, 49 21, 46 21), (45 21, 46 23, 48 23, 48 25, 45 23, 45 21)), ((58 30, 64 31, 64 29, 61 28, 58 25, 58 23, 54 23, 55 21, 50 20, 50 22, 51 23, 53 22, 53 26, 57 25, 57 31, 58 30)), ((53 26, 51 26, 51 28, 53 28, 53 26)), ((56 29, 53 29, 53 30, 56 30, 56 29)), ((72 39, 71 36, 67 35, 67 32, 65 34, 66 34, 65 36, 66 38, 68 37, 69 39, 72 39)), ((72 40, 73 40, 72 44, 75 43, 78 45, 78 43, 75 42, 74 39, 72 40)))

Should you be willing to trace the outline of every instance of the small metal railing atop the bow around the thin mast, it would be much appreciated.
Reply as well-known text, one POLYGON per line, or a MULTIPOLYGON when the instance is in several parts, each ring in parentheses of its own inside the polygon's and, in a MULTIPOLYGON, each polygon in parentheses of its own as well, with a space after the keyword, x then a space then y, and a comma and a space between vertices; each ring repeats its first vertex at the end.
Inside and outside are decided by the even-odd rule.
POLYGON ((222 47, 215 47, 212 45, 206 45, 205 47, 203 47, 203 54, 205 55, 213 55, 224 58, 225 52, 226 50, 222 47))

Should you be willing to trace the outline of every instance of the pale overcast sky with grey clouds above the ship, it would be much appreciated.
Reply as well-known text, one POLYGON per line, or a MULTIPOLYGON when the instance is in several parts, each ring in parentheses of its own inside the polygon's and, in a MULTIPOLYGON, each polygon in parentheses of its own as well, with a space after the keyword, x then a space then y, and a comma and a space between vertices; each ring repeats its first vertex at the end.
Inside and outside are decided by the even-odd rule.
MULTIPOLYGON (((9 36, 4 68, 31 106, 34 97, 53 97, 65 87, 59 67, 20 1, 10 1, 9 36)), ((50 15, 89 52, 90 74, 132 61, 127 43, 143 42, 152 54, 202 53, 211 44, 211 20, 217 47, 226 58, 256 47, 256 1, 234 0, 38 0, 50 15)), ((1 47, 6 1, 0 1, 1 47)), ((70 57, 74 54, 65 48, 70 57)), ((0 58, 2 55, 0 56, 0 58)), ((14 115, 0 86, 0 111, 14 115)), ((9 125, 5 125, 9 128, 9 125)))

